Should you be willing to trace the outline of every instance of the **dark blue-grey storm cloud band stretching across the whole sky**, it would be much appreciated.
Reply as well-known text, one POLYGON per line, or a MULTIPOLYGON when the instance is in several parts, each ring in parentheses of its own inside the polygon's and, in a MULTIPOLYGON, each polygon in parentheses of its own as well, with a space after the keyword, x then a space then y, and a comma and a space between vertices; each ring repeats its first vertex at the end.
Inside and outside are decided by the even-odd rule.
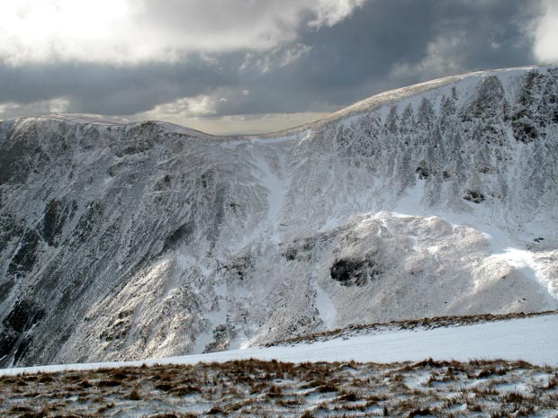
POLYGON ((212 117, 330 111, 437 76, 534 64, 537 4, 373 0, 333 26, 307 24, 309 12, 275 49, 188 53, 172 64, 3 65, 0 103, 63 97, 68 111, 130 115, 203 94, 212 117))

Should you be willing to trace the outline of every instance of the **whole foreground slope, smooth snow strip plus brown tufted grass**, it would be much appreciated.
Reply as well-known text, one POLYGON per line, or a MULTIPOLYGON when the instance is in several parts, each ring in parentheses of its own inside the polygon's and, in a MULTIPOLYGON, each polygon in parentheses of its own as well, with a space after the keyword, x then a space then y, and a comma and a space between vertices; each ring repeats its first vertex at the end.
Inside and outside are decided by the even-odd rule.
MULTIPOLYGON (((472 319, 482 318, 437 322, 472 319)), ((325 342, 145 363, 4 369, 0 414, 553 417, 556 326, 554 313, 430 330, 346 330, 325 342)))

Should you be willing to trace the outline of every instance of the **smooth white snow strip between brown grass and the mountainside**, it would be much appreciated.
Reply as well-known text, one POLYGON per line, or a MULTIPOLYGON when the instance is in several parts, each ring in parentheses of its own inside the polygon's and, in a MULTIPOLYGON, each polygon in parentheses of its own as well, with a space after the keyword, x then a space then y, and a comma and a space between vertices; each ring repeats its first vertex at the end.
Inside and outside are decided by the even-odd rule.
POLYGON ((459 361, 502 359, 556 366, 556 329, 558 316, 536 316, 432 330, 384 331, 350 338, 339 337, 325 342, 301 342, 292 346, 219 351, 154 360, 0 369, 0 376, 248 359, 285 362, 353 360, 374 363, 420 361, 428 358, 459 361))

